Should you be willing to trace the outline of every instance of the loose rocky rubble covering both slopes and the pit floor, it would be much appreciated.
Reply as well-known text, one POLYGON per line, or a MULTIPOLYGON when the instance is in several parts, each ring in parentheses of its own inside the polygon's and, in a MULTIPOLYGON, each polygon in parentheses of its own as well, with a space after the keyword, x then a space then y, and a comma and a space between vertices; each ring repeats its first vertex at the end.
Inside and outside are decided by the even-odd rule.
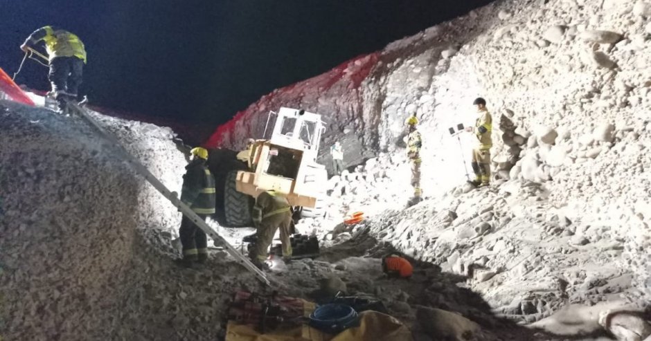
MULTIPOLYGON (((515 323, 558 340, 648 339, 650 7, 496 1, 238 113, 212 146, 243 147, 281 106, 324 116, 328 167, 327 147, 344 145, 348 170, 328 181, 326 211, 298 226, 319 236, 323 255, 288 264, 274 282, 298 297, 321 283, 372 291, 418 340, 440 333, 426 322, 433 316, 452 340, 557 339, 515 323), (470 137, 448 129, 472 125, 478 96, 494 118, 494 178, 474 190, 465 185, 470 137), (411 113, 424 136, 426 200, 407 209, 402 122, 411 113), (363 223, 342 223, 358 211, 363 223), (423 262, 412 281, 381 278, 378 257, 389 250, 423 262)), ((215 339, 224 299, 260 289, 220 250, 203 270, 174 268, 180 214, 78 119, 1 107, 8 340, 215 339)), ((169 129, 98 118, 179 189, 185 160, 169 129)), ((233 242, 242 233, 222 232, 233 242)))

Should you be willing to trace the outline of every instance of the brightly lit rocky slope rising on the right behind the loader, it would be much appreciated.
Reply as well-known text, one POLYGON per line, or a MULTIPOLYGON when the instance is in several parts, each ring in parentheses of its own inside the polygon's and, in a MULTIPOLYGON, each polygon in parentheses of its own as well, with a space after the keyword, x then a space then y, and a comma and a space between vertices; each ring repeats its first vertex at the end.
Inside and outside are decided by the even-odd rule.
MULTIPOLYGON (((242 147, 280 106, 325 116, 327 147, 351 172, 328 184, 324 237, 350 212, 375 236, 470 275, 500 313, 539 320, 567 302, 651 297, 651 3, 496 1, 445 24, 274 91, 220 127, 207 145, 242 147), (494 186, 468 192, 448 128, 468 125, 481 96, 494 117, 494 186), (407 201, 404 119, 425 138, 422 187, 407 201), (479 270, 478 270, 479 269, 479 270)), ((339 228, 337 232, 339 232, 339 228)))

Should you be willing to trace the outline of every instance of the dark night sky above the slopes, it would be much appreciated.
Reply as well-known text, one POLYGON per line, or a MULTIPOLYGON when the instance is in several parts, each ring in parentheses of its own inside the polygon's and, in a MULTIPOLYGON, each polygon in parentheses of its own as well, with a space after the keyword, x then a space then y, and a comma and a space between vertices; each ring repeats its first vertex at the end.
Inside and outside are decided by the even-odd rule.
MULTIPOLYGON (((0 0, 0 67, 52 24, 77 34, 91 102, 216 125, 270 91, 463 15, 488 0, 0 0)), ((28 62, 19 84, 48 90, 28 62)))

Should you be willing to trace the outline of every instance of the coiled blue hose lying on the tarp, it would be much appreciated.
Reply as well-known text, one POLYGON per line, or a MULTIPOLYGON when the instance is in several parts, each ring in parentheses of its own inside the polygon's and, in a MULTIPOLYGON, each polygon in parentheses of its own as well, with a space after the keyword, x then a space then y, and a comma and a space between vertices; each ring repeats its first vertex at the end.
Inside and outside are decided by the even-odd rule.
POLYGON ((346 304, 323 304, 310 314, 310 326, 337 334, 359 323, 357 311, 346 304))

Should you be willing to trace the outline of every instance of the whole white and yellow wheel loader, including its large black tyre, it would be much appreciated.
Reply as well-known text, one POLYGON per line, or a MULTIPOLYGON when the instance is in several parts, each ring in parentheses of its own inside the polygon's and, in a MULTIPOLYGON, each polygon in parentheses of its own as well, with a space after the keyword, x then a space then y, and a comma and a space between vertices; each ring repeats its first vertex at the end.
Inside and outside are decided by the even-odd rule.
MULTIPOLYGON (((324 165, 316 163, 316 157, 324 129, 321 115, 281 107, 277 113, 269 112, 263 138, 249 147, 247 163, 233 163, 235 158, 231 155, 229 167, 223 157, 209 158, 209 167, 221 168, 222 174, 224 167, 229 168, 223 176, 223 203, 220 198, 217 200, 217 206, 223 207, 224 225, 250 226, 253 203, 267 190, 284 194, 303 217, 323 214, 328 173, 324 165), (271 126, 271 136, 264 138, 271 126)), ((220 169, 216 170, 220 174, 220 169)), ((221 187, 219 178, 217 183, 221 187)))

